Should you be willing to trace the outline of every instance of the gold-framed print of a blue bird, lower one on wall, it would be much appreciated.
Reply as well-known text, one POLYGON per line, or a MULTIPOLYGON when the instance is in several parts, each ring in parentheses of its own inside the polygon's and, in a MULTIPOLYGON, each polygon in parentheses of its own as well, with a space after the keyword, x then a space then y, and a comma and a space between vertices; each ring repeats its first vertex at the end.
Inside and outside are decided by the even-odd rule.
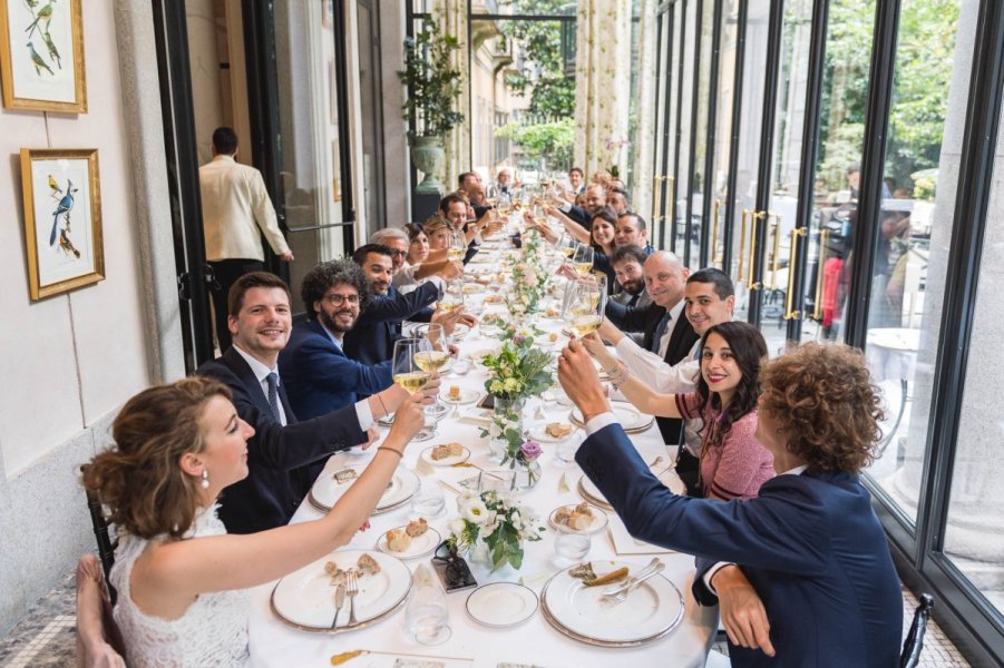
POLYGON ((31 298, 103 281, 97 149, 22 148, 21 187, 31 298))

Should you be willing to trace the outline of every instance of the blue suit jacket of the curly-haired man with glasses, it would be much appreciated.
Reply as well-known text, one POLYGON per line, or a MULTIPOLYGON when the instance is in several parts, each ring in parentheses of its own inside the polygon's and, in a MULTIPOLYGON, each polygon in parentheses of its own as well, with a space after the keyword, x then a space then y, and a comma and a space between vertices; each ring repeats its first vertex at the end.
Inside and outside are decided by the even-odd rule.
POLYGON ((350 360, 318 321, 293 327, 279 354, 279 373, 296 415, 308 420, 352 405, 391 385, 390 360, 362 364, 350 360))

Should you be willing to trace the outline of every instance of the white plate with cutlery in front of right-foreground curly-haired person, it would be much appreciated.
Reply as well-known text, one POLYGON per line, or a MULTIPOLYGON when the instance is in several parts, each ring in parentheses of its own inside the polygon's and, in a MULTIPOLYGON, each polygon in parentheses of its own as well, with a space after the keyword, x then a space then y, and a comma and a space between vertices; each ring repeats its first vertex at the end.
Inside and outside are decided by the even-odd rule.
MULTIPOLYGON (((597 576, 622 567, 634 573, 644 563, 593 561, 597 576)), ((683 596, 663 576, 653 576, 627 595, 623 603, 603 597, 607 587, 586 587, 558 571, 540 592, 545 619, 567 636, 610 647, 642 645, 669 633, 683 618, 683 596)))

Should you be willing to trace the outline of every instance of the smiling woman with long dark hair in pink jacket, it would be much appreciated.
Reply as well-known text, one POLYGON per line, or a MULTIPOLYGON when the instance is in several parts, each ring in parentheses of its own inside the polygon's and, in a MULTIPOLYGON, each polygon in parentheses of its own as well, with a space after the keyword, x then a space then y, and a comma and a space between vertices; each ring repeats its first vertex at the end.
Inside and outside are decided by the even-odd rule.
POLYGON ((699 481, 704 498, 752 499, 773 478, 773 458, 753 436, 761 360, 767 360, 767 343, 760 331, 728 322, 709 327, 701 338, 695 392, 660 394, 624 366, 611 382, 643 413, 701 420, 699 481))

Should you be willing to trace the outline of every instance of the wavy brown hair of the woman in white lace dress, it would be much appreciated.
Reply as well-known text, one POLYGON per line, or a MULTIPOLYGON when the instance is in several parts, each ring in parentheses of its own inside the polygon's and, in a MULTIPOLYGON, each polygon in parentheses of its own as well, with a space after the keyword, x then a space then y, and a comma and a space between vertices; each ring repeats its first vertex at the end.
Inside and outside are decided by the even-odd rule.
POLYGON ((84 487, 97 492, 115 524, 145 539, 188 530, 203 501, 199 481, 179 461, 205 449, 198 420, 214 396, 231 399, 230 387, 193 376, 126 402, 111 428, 115 446, 84 469, 84 487))

